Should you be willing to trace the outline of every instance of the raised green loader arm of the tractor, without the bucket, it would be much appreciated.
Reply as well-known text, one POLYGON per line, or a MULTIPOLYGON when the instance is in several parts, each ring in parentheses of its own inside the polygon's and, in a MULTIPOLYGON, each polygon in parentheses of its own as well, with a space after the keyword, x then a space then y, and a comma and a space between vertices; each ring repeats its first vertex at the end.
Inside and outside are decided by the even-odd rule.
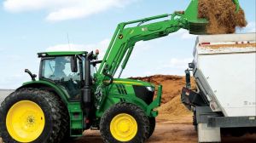
POLYGON ((109 75, 113 77, 122 61, 121 69, 125 69, 137 42, 165 37, 181 28, 189 29, 187 20, 184 19, 183 14, 179 13, 162 14, 142 20, 120 23, 114 32, 108 50, 99 67, 98 76, 103 80, 102 72, 108 70, 109 75), (143 25, 150 20, 160 20, 163 18, 170 19, 143 25), (127 27, 131 24, 137 24, 137 26, 127 27), (108 66, 108 69, 105 68, 106 66, 108 66))

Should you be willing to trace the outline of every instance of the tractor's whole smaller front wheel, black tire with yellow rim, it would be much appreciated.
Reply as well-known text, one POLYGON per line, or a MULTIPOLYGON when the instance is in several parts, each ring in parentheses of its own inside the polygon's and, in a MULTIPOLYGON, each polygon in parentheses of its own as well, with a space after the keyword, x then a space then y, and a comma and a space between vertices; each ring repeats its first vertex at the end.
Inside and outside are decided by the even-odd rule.
POLYGON ((149 134, 148 117, 140 107, 122 102, 104 113, 100 131, 106 143, 143 143, 149 134))

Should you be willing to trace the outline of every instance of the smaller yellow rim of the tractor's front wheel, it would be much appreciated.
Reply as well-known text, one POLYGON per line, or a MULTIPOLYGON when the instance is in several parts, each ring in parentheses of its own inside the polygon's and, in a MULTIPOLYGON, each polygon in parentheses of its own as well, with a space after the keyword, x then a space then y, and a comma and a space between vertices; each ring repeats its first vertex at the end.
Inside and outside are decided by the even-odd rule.
POLYGON ((129 114, 119 114, 110 123, 113 138, 119 141, 130 141, 137 134, 137 121, 129 114))

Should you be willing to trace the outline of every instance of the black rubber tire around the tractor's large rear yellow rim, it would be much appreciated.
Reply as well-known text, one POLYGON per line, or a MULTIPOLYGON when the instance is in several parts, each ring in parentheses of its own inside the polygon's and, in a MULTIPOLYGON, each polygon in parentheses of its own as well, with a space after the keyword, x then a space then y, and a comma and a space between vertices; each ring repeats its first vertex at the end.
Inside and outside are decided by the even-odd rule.
POLYGON ((30 100, 36 103, 44 112, 44 130, 38 136, 35 143, 58 143, 61 142, 65 132, 67 132, 67 116, 63 110, 64 106, 61 100, 50 93, 41 89, 19 89, 3 101, 0 107, 0 136, 5 143, 15 143, 17 140, 13 139, 6 127, 6 116, 11 106, 21 100, 30 100))

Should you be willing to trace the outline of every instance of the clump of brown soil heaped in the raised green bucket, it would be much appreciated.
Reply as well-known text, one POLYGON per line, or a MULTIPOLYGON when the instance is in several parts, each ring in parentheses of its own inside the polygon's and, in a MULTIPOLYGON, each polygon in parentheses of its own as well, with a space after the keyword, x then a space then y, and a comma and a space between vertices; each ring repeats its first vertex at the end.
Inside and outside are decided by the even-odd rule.
POLYGON ((198 15, 209 20, 208 34, 226 34, 236 32, 236 27, 247 26, 244 11, 236 13, 236 4, 232 0, 199 0, 198 15))

